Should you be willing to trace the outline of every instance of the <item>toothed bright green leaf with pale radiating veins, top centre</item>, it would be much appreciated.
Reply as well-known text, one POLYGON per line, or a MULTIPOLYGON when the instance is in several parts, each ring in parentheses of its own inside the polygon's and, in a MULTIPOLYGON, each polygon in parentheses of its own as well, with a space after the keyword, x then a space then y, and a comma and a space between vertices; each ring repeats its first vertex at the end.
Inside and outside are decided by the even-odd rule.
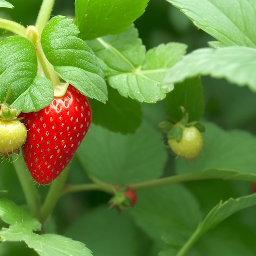
POLYGON ((173 83, 162 84, 168 68, 186 52, 186 45, 169 43, 150 49, 138 39, 133 26, 121 34, 88 41, 108 77, 108 83, 124 97, 155 103, 173 90, 173 83))

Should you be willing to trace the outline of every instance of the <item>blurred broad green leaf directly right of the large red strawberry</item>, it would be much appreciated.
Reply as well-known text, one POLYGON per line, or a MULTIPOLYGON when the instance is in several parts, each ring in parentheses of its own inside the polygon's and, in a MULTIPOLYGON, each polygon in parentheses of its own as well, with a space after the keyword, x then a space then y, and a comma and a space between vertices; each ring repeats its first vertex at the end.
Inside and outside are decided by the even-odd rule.
POLYGON ((112 184, 159 177, 167 160, 161 131, 146 121, 132 135, 92 125, 77 157, 90 175, 112 184))

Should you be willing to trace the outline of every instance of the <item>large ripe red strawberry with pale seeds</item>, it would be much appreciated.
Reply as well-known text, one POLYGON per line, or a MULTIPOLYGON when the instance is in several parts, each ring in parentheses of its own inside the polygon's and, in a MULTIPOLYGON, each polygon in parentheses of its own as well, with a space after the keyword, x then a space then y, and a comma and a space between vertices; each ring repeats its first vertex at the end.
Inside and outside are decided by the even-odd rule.
POLYGON ((22 117, 28 130, 22 147, 27 168, 36 182, 49 184, 69 164, 90 127, 88 100, 69 85, 63 97, 22 117))

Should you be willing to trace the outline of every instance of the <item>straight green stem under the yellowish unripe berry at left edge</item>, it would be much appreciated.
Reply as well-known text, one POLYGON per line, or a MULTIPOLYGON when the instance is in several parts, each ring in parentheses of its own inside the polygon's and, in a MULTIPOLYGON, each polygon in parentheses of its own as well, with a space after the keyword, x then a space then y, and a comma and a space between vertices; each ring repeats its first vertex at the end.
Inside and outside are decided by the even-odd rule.
POLYGON ((22 155, 14 160, 13 166, 16 170, 18 179, 20 180, 29 210, 31 214, 36 217, 38 216, 38 211, 40 209, 40 196, 36 190, 35 182, 31 179, 31 175, 27 171, 27 166, 22 155))

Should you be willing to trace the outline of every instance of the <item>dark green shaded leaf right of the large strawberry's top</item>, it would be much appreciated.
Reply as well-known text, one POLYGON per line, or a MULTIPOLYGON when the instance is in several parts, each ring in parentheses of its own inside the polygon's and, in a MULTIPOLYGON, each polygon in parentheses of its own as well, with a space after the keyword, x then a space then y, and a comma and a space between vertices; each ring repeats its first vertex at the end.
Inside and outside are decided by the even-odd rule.
POLYGON ((90 101, 94 124, 121 134, 134 133, 141 124, 141 106, 137 101, 122 97, 117 90, 108 88, 108 101, 90 101))

